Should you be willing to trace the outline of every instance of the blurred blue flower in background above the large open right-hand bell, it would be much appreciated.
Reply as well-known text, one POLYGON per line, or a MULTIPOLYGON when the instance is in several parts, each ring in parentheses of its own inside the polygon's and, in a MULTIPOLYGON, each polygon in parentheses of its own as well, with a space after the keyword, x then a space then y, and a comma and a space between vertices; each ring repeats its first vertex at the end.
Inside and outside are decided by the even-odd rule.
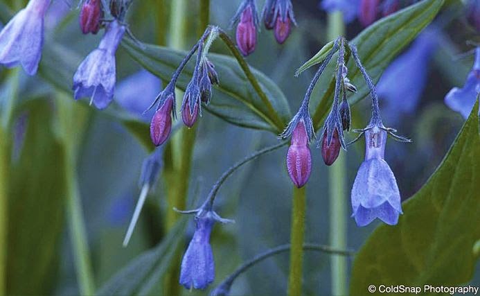
POLYGON ((387 67, 377 84, 390 123, 400 114, 415 111, 427 83, 429 61, 438 46, 438 32, 429 29, 420 34, 411 47, 387 67))

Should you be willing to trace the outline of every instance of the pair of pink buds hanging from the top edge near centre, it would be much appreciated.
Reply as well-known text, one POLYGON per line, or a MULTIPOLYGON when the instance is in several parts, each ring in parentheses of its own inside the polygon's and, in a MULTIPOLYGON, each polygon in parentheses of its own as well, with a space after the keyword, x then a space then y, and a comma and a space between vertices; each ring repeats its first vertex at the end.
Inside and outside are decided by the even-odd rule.
MULTIPOLYGON (((262 19, 267 30, 274 30, 274 36, 279 44, 283 44, 296 25, 293 6, 290 0, 267 0, 263 7, 262 19)), ((258 14, 255 0, 243 0, 231 20, 231 25, 238 23, 236 40, 242 55, 255 51, 258 31, 258 14)))

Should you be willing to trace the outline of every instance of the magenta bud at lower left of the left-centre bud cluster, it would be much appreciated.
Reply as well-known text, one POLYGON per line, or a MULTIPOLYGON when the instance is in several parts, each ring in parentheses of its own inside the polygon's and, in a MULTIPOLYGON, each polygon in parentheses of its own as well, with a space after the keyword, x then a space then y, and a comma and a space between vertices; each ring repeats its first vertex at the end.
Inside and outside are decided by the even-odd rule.
POLYGON ((155 112, 150 122, 150 138, 155 146, 165 143, 172 131, 173 98, 167 98, 165 103, 155 112))

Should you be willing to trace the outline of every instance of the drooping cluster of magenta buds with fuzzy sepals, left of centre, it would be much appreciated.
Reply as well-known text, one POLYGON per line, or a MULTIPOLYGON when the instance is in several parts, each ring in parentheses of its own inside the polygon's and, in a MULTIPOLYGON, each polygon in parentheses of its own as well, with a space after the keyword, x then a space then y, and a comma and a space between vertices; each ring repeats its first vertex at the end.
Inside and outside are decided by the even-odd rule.
POLYGON ((150 137, 155 146, 159 146, 168 139, 172 130, 172 116, 175 117, 175 85, 177 79, 184 69, 186 63, 197 51, 197 61, 195 63, 195 69, 193 70, 193 76, 185 89, 184 99, 181 103, 181 119, 184 124, 191 128, 197 121, 198 115, 202 115, 201 104, 208 105, 210 103, 212 95, 212 85, 218 85, 219 80, 215 66, 213 65, 206 54, 208 48, 204 46, 204 42, 208 35, 217 34, 216 27, 208 27, 204 35, 193 46, 190 52, 186 55, 184 60, 173 73, 172 79, 168 85, 163 89, 160 94, 155 98, 152 105, 148 108, 152 108, 157 104, 157 110, 150 122, 150 137))

